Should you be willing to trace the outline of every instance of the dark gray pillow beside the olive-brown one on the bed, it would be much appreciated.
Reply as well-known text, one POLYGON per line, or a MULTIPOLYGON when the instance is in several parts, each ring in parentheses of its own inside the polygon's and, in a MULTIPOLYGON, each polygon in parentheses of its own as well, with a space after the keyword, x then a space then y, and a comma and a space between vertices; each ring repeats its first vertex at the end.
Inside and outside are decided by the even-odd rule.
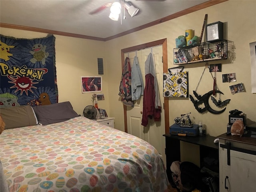
POLYGON ((69 101, 50 105, 34 106, 32 108, 36 113, 38 123, 42 125, 63 122, 80 116, 73 110, 69 101))

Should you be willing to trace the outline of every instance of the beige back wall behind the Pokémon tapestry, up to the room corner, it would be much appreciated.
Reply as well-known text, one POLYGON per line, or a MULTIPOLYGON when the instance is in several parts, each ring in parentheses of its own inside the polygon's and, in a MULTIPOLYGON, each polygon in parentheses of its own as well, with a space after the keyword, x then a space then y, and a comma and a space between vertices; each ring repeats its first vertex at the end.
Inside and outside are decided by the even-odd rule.
MULTIPOLYGON (((0 33, 16 38, 40 38, 47 34, 0 28, 0 33)), ((56 71, 59 102, 70 101, 74 110, 82 115, 84 107, 92 105, 92 93, 82 94, 81 76, 99 76, 97 58, 106 60, 104 42, 54 35, 56 37, 56 71)), ((104 66, 104 73, 108 68, 104 66)), ((107 75, 102 76, 105 100, 98 101, 100 108, 109 112, 107 75)))

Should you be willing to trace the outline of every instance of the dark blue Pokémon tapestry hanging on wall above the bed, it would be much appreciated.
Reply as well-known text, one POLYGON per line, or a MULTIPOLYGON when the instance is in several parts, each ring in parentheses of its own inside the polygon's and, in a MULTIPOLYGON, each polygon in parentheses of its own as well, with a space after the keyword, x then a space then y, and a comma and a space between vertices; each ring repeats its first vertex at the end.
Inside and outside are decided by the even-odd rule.
POLYGON ((55 37, 0 35, 0 108, 58 102, 55 37))

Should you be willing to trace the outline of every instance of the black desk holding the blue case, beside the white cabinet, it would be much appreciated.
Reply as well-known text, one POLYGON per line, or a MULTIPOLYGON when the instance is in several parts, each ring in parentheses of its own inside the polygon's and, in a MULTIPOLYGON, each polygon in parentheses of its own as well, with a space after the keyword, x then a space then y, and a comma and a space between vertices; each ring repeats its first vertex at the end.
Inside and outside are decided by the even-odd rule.
POLYGON ((218 160, 218 143, 214 143, 216 137, 213 136, 176 136, 170 134, 164 134, 165 136, 165 154, 166 154, 166 172, 168 179, 172 179, 170 166, 174 161, 180 161, 180 141, 199 145, 200 149, 200 167, 203 167, 203 159, 208 154, 213 153, 216 160, 218 160))

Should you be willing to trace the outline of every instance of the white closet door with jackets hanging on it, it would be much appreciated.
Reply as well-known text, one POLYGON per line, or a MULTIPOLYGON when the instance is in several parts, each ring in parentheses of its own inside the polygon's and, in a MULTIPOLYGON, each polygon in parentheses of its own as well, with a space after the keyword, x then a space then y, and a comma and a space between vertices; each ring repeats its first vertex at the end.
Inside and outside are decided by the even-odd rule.
MULTIPOLYGON (((154 119, 148 122, 148 126, 144 127, 141 125, 142 121, 142 111, 143 111, 143 96, 134 102, 134 107, 127 107, 127 129, 128 133, 152 144, 159 153, 163 155, 163 160, 165 161, 165 140, 162 136, 165 134, 164 128, 164 110, 163 110, 163 64, 162 64, 162 46, 156 46, 153 48, 147 48, 144 50, 137 51, 137 57, 140 64, 140 69, 142 72, 142 77, 144 79, 145 86, 145 61, 148 58, 152 49, 152 53, 154 54, 155 65, 156 65, 156 78, 158 81, 159 95, 160 101, 162 105, 161 112, 161 121, 154 122, 154 119)), ((134 56, 136 52, 130 52, 128 54, 124 54, 124 56, 130 58, 130 64, 132 67, 134 56)))

